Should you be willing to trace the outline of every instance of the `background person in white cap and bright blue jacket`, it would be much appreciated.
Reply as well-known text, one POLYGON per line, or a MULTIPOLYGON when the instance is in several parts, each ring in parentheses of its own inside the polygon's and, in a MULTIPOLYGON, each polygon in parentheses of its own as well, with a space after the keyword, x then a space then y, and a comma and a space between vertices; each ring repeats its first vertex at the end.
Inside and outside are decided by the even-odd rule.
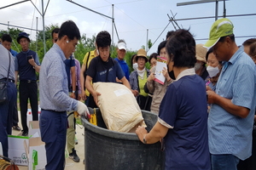
POLYGON ((118 42, 118 48, 117 48, 117 58, 115 58, 115 60, 117 60, 119 62, 119 65, 121 66, 122 70, 125 72, 125 77, 128 81, 130 81, 129 76, 130 76, 130 72, 129 72, 129 67, 127 65, 127 63, 125 62, 125 54, 126 54, 126 43, 125 40, 119 40, 118 42))

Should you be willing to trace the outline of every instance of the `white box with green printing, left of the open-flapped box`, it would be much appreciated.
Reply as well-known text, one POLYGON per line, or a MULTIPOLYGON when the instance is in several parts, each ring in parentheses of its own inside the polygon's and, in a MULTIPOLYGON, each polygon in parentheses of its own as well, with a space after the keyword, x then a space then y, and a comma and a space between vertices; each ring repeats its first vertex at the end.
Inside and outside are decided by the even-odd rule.
POLYGON ((24 148, 24 141, 28 143, 28 137, 24 136, 14 136, 9 135, 8 136, 8 144, 9 144, 9 150, 8 155, 9 158, 15 161, 16 165, 28 165, 28 159, 26 156, 26 150, 24 148))

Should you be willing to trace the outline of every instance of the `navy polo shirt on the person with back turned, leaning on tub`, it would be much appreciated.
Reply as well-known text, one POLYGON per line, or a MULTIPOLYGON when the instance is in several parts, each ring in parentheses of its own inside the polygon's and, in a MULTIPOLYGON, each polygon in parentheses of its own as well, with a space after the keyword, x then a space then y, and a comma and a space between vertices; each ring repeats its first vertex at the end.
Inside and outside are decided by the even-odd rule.
POLYGON ((202 78, 187 75, 172 82, 160 104, 159 117, 170 126, 164 138, 166 170, 210 170, 207 94, 202 78))

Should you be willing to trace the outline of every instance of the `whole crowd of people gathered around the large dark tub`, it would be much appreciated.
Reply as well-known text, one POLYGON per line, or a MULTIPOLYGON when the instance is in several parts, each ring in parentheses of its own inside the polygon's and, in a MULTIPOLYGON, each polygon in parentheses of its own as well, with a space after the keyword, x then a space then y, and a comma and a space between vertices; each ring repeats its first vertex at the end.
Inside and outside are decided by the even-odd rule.
POLYGON ((87 107, 98 107, 101 94, 93 88, 94 82, 122 83, 131 89, 141 110, 158 116, 149 132, 137 127, 136 133, 143 144, 160 141, 165 146, 166 169, 256 169, 256 38, 238 47, 233 29, 230 20, 216 20, 205 44, 195 44, 189 30, 169 31, 157 53, 148 58, 141 48, 131 56, 131 70, 125 61, 125 40, 119 40, 116 58, 110 57, 108 31, 96 35, 95 50, 86 53, 80 65, 73 55, 80 32, 71 20, 52 31, 53 46, 42 64, 38 54, 29 49, 26 32, 20 32, 17 38, 20 53, 10 48, 11 37, 3 35, 0 82, 9 81, 8 101, 0 104, 3 155, 8 156, 7 135, 12 128, 21 130, 15 86, 18 81, 21 135, 28 133, 28 99, 32 120, 38 120, 39 72, 39 125, 45 142, 46 169, 64 169, 66 143, 70 158, 80 161, 75 150, 74 114, 87 116, 87 107), (155 81, 160 59, 166 59, 161 71, 163 83, 155 81))

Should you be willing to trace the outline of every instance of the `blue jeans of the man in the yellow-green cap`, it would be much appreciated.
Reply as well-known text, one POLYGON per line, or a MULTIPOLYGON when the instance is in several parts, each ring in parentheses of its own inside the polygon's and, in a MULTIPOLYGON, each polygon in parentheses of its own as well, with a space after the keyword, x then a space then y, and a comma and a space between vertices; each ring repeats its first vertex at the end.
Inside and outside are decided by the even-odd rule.
POLYGON ((231 154, 212 155, 212 170, 237 170, 239 158, 231 154))

